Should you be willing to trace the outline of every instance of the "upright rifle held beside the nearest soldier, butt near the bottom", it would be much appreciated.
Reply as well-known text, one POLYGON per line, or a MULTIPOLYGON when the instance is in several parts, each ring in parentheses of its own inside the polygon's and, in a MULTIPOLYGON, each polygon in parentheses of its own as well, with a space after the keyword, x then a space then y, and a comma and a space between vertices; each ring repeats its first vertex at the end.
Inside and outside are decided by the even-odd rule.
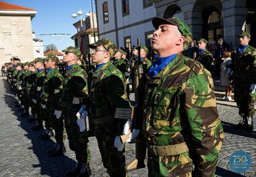
POLYGON ((141 39, 137 39, 138 43, 138 60, 137 60, 137 70, 138 74, 135 76, 135 119, 134 119, 134 128, 139 129, 140 133, 137 138, 134 138, 136 143, 136 159, 131 161, 126 166, 126 171, 133 171, 139 168, 144 168, 144 160, 146 158, 146 139, 142 135, 142 126, 143 126, 143 95, 144 95, 144 85, 146 70, 144 67, 141 67, 141 39))

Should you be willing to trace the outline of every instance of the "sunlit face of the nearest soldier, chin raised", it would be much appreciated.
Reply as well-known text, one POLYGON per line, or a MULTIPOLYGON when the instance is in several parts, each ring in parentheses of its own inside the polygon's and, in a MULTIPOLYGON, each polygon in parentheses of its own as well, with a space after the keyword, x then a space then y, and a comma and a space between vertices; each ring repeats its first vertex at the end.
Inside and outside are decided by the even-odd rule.
POLYGON ((158 52, 171 50, 185 41, 185 37, 175 25, 160 25, 153 34, 152 47, 158 52))

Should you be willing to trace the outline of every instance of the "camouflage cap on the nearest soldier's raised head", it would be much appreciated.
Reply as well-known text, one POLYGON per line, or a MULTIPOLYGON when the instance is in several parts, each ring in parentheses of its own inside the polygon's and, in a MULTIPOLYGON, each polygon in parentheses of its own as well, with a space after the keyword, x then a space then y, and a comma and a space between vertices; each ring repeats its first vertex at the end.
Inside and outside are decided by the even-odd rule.
POLYGON ((183 43, 183 49, 186 50, 188 46, 190 45, 192 41, 192 34, 190 32, 190 29, 188 25, 184 22, 182 22, 178 17, 171 17, 171 18, 159 18, 155 17, 152 20, 153 26, 155 29, 157 29, 160 25, 175 25, 178 27, 180 33, 186 38, 183 43))

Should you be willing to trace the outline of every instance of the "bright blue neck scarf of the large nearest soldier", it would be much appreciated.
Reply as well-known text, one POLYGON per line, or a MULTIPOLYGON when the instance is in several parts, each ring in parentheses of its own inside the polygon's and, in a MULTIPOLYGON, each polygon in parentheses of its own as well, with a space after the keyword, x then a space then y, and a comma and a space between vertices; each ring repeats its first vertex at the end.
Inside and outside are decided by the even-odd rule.
POLYGON ((157 58, 155 63, 149 69, 149 77, 156 76, 160 71, 165 68, 171 61, 174 60, 177 54, 170 55, 168 57, 157 58))

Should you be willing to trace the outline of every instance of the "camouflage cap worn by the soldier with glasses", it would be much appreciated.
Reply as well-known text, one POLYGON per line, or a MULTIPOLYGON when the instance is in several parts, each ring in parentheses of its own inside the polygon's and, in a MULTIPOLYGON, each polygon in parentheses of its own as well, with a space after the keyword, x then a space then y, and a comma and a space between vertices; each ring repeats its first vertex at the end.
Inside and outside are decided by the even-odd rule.
POLYGON ((109 53, 111 58, 114 57, 115 53, 117 53, 117 47, 115 44, 107 38, 99 39, 96 43, 88 45, 91 49, 95 49, 98 46, 103 46, 109 53))

